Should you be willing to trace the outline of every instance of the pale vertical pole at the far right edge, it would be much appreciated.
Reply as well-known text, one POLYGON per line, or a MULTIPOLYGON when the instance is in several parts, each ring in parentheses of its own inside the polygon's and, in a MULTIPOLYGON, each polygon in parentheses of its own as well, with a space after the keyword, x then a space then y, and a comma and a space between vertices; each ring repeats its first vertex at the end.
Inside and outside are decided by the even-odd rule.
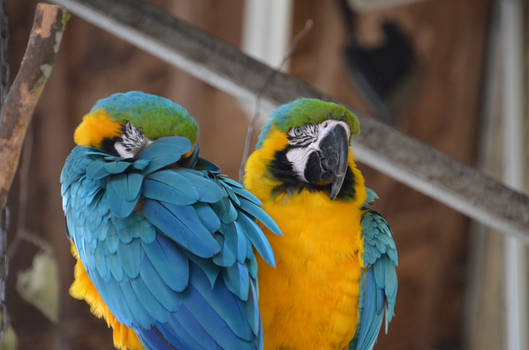
MULTIPOLYGON (((524 187, 524 45, 521 0, 501 0, 503 38, 503 178, 517 190, 524 187)), ((505 305, 507 350, 527 349, 526 247, 505 240, 505 305)))

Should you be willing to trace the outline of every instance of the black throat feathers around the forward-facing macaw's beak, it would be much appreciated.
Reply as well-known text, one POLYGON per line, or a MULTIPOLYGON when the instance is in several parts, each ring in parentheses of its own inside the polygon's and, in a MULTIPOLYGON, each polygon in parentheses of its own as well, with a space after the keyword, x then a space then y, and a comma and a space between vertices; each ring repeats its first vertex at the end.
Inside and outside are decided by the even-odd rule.
MULTIPOLYGON (((270 174, 277 180, 281 181, 282 184, 272 190, 272 196, 275 197, 281 193, 294 195, 301 192, 303 189, 307 189, 310 192, 325 191, 330 195, 331 185, 317 186, 304 181, 301 181, 297 174, 294 172, 292 163, 287 159, 287 152, 296 148, 296 146, 288 145, 284 150, 277 151, 274 155, 274 160, 270 162, 268 170, 270 174)), ((345 179, 338 196, 336 198, 341 200, 354 200, 355 199, 355 178, 354 173, 350 167, 347 167, 345 179)))

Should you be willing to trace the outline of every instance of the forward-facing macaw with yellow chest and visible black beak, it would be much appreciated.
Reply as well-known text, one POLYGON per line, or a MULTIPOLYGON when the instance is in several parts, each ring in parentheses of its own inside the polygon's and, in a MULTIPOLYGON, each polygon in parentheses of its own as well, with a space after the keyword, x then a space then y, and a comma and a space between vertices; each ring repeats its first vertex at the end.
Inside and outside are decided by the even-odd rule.
POLYGON ((281 106, 263 127, 244 183, 282 237, 258 259, 266 349, 372 349, 394 315, 397 251, 368 205, 350 147, 359 132, 345 107, 316 99, 281 106))

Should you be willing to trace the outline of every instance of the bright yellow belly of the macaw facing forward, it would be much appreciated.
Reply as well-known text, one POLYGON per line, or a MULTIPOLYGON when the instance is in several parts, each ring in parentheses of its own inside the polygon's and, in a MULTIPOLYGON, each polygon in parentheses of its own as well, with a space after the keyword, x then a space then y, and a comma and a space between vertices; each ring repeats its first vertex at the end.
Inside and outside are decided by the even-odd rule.
POLYGON ((358 204, 303 191, 263 208, 283 232, 267 231, 277 268, 259 260, 265 349, 346 349, 363 264, 358 204))

